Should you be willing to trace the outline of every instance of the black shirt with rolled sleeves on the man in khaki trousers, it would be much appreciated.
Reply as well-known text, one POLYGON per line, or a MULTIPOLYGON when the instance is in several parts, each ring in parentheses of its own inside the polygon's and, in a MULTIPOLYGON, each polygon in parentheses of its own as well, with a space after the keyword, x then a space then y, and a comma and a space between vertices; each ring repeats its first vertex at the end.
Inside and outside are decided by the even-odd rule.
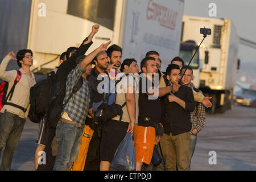
POLYGON ((176 102, 168 102, 168 98, 164 98, 162 105, 163 126, 164 133, 167 135, 170 133, 178 135, 189 132, 192 127, 191 112, 195 110, 195 101, 191 88, 181 85, 174 95, 185 102, 185 109, 176 102))

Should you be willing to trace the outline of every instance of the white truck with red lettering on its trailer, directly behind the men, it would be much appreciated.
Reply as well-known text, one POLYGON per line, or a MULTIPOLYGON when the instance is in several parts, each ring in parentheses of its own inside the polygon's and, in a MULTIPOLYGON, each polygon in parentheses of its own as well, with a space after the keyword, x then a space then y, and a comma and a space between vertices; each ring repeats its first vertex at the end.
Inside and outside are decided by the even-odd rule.
POLYGON ((154 50, 164 72, 179 55, 183 10, 184 0, 32 0, 27 47, 35 52, 34 69, 49 72, 97 23, 100 30, 88 53, 112 40, 123 48, 123 59, 135 58, 140 65, 154 50))

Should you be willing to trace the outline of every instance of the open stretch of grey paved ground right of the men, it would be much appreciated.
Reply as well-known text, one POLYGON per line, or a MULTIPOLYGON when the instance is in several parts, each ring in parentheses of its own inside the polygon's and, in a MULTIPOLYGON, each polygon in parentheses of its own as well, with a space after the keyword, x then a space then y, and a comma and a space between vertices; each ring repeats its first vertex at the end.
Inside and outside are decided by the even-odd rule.
POLYGON ((256 108, 234 106, 224 114, 207 115, 191 170, 256 170, 255 155, 256 108), (216 152, 217 164, 209 164, 210 151, 216 152))

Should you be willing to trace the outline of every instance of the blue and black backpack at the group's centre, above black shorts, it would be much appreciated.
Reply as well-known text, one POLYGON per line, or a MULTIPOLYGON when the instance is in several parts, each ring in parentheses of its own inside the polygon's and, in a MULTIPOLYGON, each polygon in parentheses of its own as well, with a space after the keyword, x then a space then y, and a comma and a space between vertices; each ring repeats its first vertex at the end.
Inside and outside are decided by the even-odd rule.
MULTIPOLYGON (((128 74, 125 74, 126 76, 128 74)), ((93 114, 95 115, 94 120, 100 122, 104 125, 110 119, 114 118, 117 115, 120 115, 119 121, 122 120, 123 111, 122 108, 126 105, 126 102, 123 105, 115 104, 117 93, 115 86, 122 80, 123 76, 119 78, 118 81, 113 81, 109 79, 108 82, 108 93, 103 94, 103 99, 101 101, 94 101, 92 105, 93 114), (111 88, 111 85, 114 85, 114 88, 111 88)), ((102 86, 102 90, 104 90, 102 86)))

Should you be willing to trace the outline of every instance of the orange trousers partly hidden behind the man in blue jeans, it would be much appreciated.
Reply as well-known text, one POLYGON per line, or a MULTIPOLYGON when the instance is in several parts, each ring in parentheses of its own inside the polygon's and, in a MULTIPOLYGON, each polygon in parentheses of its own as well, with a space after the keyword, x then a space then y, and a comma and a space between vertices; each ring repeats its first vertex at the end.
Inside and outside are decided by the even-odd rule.
POLYGON ((79 155, 76 161, 71 166, 71 171, 84 171, 85 159, 87 156, 90 140, 92 139, 93 130, 89 125, 84 126, 84 131, 82 131, 82 139, 79 149, 79 155))

